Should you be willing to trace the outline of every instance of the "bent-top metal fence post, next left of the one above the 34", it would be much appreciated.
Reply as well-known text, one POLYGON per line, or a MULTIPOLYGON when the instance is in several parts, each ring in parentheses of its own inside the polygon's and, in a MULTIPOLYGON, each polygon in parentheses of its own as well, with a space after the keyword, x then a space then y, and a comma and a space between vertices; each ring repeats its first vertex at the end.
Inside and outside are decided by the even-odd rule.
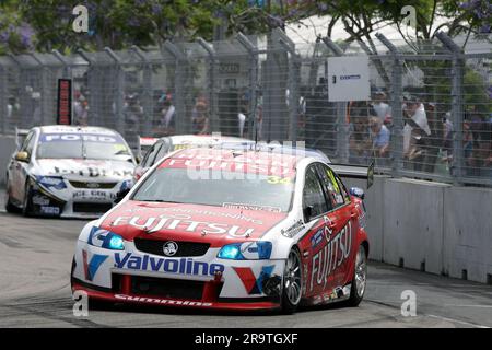
POLYGON ((253 43, 244 35, 238 33, 237 42, 248 51, 249 55, 249 119, 248 119, 248 137, 255 139, 256 128, 256 114, 257 114, 257 93, 258 93, 258 49, 253 43), (255 133, 254 133, 255 130, 255 133))

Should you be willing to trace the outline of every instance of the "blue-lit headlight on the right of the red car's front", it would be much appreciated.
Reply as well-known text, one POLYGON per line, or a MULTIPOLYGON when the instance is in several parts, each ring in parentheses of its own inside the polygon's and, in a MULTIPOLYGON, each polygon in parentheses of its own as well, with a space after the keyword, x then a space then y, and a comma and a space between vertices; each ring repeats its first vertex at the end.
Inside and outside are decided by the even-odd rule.
POLYGON ((266 260, 271 256, 271 242, 245 242, 224 245, 216 255, 220 259, 266 260))

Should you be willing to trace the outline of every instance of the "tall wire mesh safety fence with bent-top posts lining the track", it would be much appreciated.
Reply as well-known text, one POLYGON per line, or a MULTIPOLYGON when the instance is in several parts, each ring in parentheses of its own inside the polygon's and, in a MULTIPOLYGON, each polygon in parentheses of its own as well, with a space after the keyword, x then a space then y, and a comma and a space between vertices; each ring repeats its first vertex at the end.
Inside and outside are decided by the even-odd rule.
POLYGON ((304 141, 336 163, 395 177, 492 186, 490 38, 371 45, 293 43, 281 31, 160 48, 0 57, 0 132, 56 122, 58 79, 73 124, 138 136, 221 132, 304 141), (367 56, 370 101, 328 100, 328 58, 367 56))

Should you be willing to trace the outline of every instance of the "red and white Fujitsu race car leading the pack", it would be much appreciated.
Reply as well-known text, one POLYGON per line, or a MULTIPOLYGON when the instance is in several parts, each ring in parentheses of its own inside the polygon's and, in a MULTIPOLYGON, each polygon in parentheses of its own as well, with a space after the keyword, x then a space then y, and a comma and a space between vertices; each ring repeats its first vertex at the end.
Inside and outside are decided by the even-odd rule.
POLYGON ((318 158, 179 150, 84 226, 72 291, 199 308, 354 306, 366 285, 362 198, 318 158))

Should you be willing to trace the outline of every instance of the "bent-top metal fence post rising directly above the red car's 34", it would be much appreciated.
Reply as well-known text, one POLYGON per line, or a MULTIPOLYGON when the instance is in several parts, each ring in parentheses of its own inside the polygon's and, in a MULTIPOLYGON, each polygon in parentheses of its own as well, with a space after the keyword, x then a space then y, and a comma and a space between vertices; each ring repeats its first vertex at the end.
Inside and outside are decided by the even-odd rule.
POLYGON ((292 145, 296 147, 300 115, 301 57, 295 51, 293 42, 279 38, 279 44, 291 55, 289 60, 289 139, 292 141, 292 145))

